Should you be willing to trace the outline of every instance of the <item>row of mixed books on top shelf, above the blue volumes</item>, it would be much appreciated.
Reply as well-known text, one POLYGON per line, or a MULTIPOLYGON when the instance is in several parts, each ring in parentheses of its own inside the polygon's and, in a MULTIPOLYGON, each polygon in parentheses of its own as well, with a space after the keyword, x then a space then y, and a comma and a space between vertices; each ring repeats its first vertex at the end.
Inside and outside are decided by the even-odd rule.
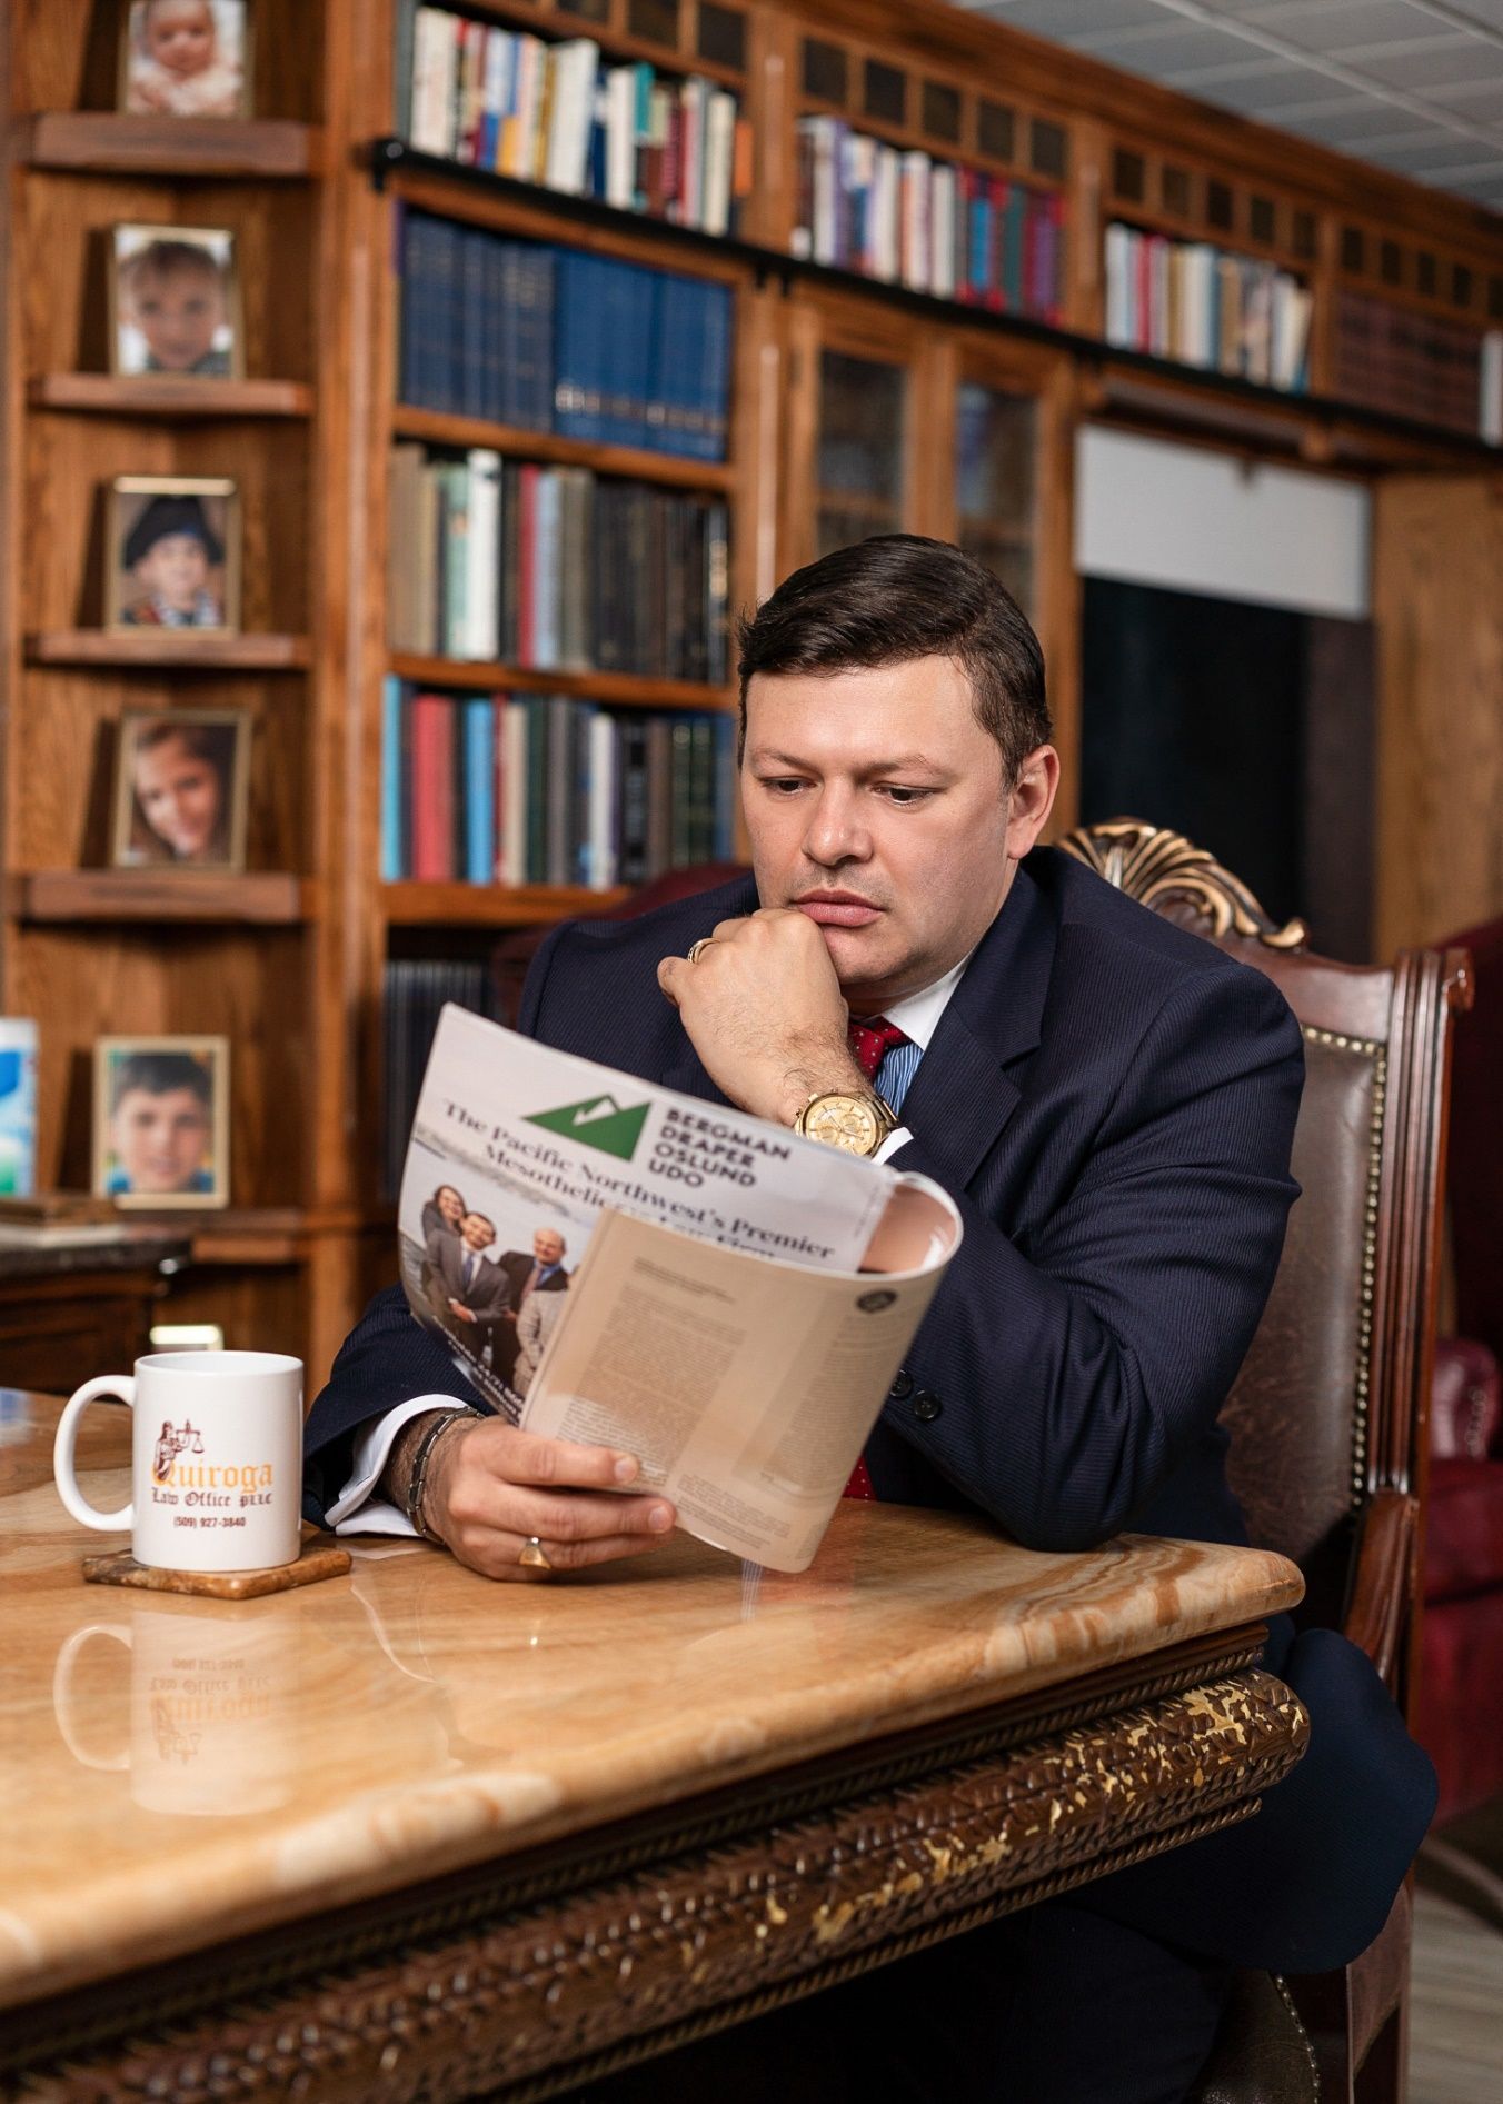
POLYGON ((408 141, 467 168, 600 198, 705 234, 733 234, 752 189, 752 128, 709 80, 602 65, 587 36, 547 44, 526 29, 419 6, 408 141))

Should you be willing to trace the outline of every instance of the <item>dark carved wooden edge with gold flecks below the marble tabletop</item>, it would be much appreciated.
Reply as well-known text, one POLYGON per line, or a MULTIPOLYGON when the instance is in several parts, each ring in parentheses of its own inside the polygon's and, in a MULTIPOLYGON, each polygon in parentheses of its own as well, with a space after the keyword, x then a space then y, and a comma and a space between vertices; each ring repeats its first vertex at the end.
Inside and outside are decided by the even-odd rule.
POLYGON ((1248 1818, 1309 1736, 1263 1635, 8 2009, 0 2098, 558 2096, 1248 1818))

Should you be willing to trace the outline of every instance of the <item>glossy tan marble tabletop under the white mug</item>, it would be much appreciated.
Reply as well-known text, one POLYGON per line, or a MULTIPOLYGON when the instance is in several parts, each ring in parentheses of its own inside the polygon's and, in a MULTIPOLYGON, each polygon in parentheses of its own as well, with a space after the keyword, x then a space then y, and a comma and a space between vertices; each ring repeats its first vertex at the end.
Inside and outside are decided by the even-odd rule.
MULTIPOLYGON (((11 1391, 15 1397, 15 1391, 11 1391)), ((23 1408, 25 1405, 25 1408, 23 1408)), ((91 1494, 126 1414, 91 1412, 91 1494)), ((0 1418, 0 2005, 160 1961, 1257 1622, 1259 1551, 1124 1536, 1038 1555, 846 1502, 813 1567, 686 1536, 493 1584, 425 1544, 253 1601, 84 1584, 46 1473, 57 1405, 0 1418)), ((109 1466, 116 1462, 116 1466, 109 1466)))

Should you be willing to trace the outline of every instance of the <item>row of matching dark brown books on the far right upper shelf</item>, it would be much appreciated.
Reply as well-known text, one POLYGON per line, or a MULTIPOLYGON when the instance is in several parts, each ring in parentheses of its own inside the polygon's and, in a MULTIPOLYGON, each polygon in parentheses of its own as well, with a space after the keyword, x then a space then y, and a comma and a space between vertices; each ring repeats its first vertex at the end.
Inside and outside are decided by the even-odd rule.
POLYGON ((1503 330, 1480 337, 1438 313, 1337 295, 1335 391, 1503 444, 1503 330))

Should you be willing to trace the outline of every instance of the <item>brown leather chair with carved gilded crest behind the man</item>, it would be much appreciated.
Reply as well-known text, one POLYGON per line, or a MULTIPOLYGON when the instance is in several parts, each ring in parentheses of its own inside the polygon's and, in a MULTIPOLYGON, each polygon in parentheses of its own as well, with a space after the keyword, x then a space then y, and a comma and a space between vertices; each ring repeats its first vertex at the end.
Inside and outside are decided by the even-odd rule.
MULTIPOLYGON (((1061 846, 1267 972, 1299 1018, 1303 1197, 1223 1412, 1229 1475, 1252 1540, 1305 1574, 1301 1620, 1360 1643, 1412 1723, 1450 1018, 1469 1002, 1467 955, 1404 951, 1391 970, 1316 957, 1299 922, 1274 926, 1208 854, 1139 821, 1061 846)), ((1406 1988, 1408 1887, 1343 1974, 1238 1976, 1198 2104, 1400 2100, 1406 1988)))

